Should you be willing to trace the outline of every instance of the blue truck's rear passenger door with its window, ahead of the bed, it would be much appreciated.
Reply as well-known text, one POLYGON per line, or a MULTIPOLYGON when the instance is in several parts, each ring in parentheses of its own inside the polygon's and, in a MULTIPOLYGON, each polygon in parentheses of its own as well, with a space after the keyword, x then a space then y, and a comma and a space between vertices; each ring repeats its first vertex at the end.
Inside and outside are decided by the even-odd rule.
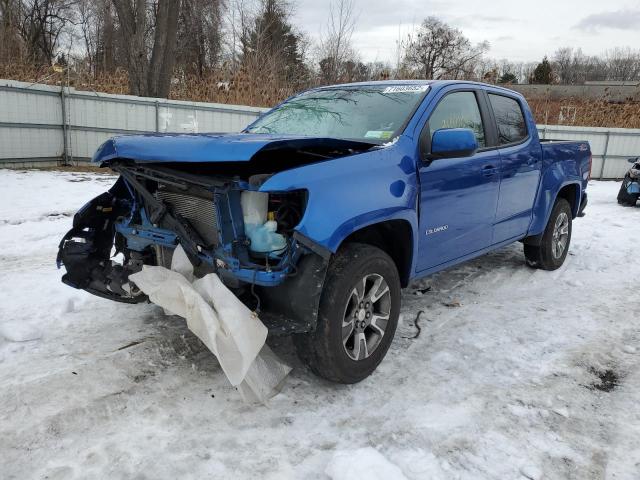
POLYGON ((500 152, 500 197, 493 243, 526 235, 540 184, 542 149, 530 132, 517 97, 489 92, 488 103, 497 126, 500 152))

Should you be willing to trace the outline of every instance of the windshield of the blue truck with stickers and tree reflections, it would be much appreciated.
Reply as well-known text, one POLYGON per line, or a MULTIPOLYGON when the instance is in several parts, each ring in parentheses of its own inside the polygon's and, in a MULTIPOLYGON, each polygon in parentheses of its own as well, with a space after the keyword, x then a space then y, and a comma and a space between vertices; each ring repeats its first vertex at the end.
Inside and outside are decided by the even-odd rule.
POLYGON ((367 85, 313 90, 271 110, 246 131, 388 142, 401 133, 428 88, 367 85))

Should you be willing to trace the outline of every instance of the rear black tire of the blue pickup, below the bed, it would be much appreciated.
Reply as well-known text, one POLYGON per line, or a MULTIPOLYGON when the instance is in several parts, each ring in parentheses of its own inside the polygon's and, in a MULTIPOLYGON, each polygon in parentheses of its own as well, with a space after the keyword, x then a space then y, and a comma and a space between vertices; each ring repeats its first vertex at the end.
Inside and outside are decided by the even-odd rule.
MULTIPOLYGON (((564 198, 558 198, 556 204, 553 206, 551 216, 547 222, 547 226, 542 234, 542 240, 540 245, 524 245, 524 256, 527 259, 527 264, 533 268, 540 268, 542 270, 556 270, 560 268, 567 258, 567 252, 571 245, 571 229, 572 229, 572 212, 571 205, 564 198), (558 220, 562 217, 562 220, 558 220), (559 249, 558 240, 559 236, 556 236, 556 227, 558 222, 562 221, 563 227, 566 219, 566 242, 562 251, 559 249), (555 243, 555 245, 554 245, 555 243)), ((564 228, 561 228, 564 231, 564 228)), ((564 237, 564 233, 562 234, 564 237)))

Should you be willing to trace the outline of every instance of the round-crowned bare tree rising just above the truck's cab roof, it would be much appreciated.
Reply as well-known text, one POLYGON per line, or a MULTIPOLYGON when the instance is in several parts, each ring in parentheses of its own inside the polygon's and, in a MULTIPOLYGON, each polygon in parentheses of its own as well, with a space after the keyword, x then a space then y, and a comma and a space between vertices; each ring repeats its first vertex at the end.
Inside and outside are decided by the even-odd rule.
POLYGON ((473 75, 474 61, 489 48, 469 39, 436 17, 427 17, 404 44, 405 63, 423 78, 465 78, 473 75))

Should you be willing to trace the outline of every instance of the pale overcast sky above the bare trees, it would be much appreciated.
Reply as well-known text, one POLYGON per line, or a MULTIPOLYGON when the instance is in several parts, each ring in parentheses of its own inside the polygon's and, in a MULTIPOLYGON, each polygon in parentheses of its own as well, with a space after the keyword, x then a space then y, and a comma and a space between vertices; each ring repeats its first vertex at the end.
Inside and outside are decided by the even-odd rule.
MULTIPOLYGON (((294 19, 317 38, 326 28, 329 0, 297 0, 294 19)), ((477 43, 488 56, 537 61, 562 46, 595 55, 617 46, 640 49, 640 1, 609 0, 354 0, 353 44, 365 61, 395 63, 397 40, 434 15, 477 43)))

